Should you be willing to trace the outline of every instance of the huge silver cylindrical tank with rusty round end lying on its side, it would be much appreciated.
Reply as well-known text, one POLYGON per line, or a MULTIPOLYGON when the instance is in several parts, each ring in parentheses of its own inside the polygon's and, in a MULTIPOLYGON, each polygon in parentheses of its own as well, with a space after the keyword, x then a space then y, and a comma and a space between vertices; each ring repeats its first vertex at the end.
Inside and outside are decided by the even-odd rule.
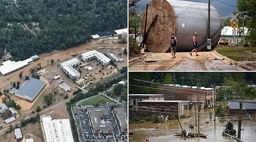
MULTIPOLYGON (((193 32, 197 32, 197 43, 201 45, 207 41, 208 3, 152 0, 148 4, 146 32, 152 20, 158 14, 155 24, 148 32, 146 48, 150 52, 168 52, 170 50, 170 36, 177 37, 176 51, 190 51, 193 49, 193 32)), ((142 18, 142 36, 144 39, 144 24, 146 10, 142 18)), ((220 14, 214 6, 210 6, 210 36, 221 28, 220 14)), ((213 39, 212 39, 213 40, 213 39)), ((217 45, 212 42, 212 49, 217 45)))

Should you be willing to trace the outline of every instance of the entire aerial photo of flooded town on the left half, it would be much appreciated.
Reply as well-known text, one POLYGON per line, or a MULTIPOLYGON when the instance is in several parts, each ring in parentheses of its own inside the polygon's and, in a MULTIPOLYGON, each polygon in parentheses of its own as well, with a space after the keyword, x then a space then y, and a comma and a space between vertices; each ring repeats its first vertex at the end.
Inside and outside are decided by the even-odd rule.
POLYGON ((127 1, 0 7, 0 141, 127 141, 127 1))

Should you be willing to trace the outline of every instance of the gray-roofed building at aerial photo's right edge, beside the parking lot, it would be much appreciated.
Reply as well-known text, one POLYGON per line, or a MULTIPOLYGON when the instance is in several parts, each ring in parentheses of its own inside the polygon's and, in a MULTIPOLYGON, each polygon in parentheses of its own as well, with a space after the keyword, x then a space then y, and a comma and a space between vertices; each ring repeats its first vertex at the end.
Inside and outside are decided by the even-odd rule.
POLYGON ((127 132, 127 116, 125 114, 125 109, 114 108, 114 114, 118 120, 120 132, 127 132))

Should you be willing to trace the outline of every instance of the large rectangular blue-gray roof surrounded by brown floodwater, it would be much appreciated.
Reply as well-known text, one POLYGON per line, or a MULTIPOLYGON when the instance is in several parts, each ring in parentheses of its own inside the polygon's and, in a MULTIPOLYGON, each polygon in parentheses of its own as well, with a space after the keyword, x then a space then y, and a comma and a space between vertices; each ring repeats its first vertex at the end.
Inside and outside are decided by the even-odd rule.
POLYGON ((30 77, 30 79, 23 83, 19 90, 16 91, 16 95, 21 95, 28 101, 33 101, 45 85, 46 82, 30 77))

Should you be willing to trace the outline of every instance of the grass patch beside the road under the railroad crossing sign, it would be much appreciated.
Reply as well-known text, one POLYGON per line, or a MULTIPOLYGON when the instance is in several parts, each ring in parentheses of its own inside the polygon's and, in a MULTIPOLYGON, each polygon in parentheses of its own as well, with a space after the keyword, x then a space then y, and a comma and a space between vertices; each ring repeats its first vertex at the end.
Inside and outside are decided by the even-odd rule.
POLYGON ((256 56, 251 53, 246 53, 246 51, 251 51, 252 53, 256 52, 256 48, 237 48, 232 46, 222 46, 215 48, 218 53, 224 55, 235 61, 255 61, 256 56))

